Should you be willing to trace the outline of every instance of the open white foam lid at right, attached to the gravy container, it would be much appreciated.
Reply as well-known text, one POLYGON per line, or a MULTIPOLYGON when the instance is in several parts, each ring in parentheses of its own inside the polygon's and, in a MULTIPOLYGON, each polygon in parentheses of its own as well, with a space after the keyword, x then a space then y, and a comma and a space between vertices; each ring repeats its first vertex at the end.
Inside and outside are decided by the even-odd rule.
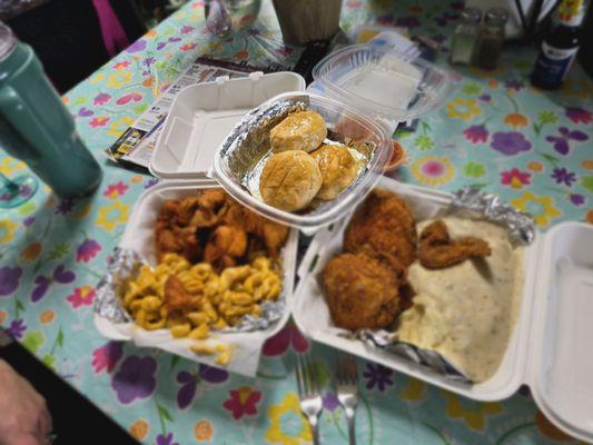
POLYGON ((593 226, 541 238, 524 382, 550 421, 593 443, 593 226))

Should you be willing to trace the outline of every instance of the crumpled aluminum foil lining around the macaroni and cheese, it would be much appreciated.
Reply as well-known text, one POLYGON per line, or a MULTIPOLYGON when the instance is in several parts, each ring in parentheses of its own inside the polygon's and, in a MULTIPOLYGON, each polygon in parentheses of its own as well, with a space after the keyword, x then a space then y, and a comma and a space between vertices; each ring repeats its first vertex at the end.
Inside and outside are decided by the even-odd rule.
MULTIPOLYGON (((132 249, 116 247, 108 259, 107 274, 97 285, 95 313, 115 324, 134 322, 121 306, 118 294, 123 289, 127 280, 136 277, 140 267, 145 265, 149 264, 140 254, 132 249)), ((286 290, 283 288, 276 300, 266 300, 259 305, 261 314, 258 317, 245 315, 237 325, 218 332, 247 333, 267 329, 283 317, 287 307, 286 301, 286 290)))

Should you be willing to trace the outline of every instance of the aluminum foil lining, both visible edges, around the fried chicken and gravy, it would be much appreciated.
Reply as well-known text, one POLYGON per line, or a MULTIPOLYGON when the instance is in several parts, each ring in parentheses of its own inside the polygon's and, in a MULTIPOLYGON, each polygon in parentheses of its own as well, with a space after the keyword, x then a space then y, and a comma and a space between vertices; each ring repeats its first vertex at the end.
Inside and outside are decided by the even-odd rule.
MULTIPOLYGON (((521 245, 528 245, 535 237, 535 222, 528 214, 518 211, 504 202, 498 196, 486 194, 471 187, 464 187, 454 194, 454 199, 444 211, 466 218, 486 219, 508 229, 511 240, 521 245)), ((369 347, 383 349, 391 354, 403 356, 409 360, 428 367, 444 375, 448 380, 472 384, 472 379, 446 357, 435 350, 423 349, 408 343, 398 342, 397 333, 384 329, 362 329, 356 333, 345 333, 346 338, 356 338, 369 347)))

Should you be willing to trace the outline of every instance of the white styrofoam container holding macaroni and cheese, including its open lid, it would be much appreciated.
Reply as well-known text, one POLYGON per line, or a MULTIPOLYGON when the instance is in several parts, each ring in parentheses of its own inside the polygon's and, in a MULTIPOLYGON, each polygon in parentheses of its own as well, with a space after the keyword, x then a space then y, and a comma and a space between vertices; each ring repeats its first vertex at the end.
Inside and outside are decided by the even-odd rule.
MULTIPOLYGON (((179 199, 191 196, 198 189, 219 187, 215 180, 206 177, 206 171, 211 166, 218 146, 235 123, 245 112, 269 98, 285 91, 304 89, 305 80, 293 72, 253 72, 245 78, 229 80, 221 77, 214 82, 184 88, 174 99, 150 160, 150 171, 165 180, 140 196, 119 246, 132 248, 156 264, 154 230, 157 214, 165 199, 179 199)), ((290 230, 283 249, 283 285, 287 290, 288 303, 293 296, 297 245, 298 233, 290 230)), ((224 342, 239 345, 234 348, 227 369, 255 374, 264 340, 277 333, 288 317, 289 304, 284 317, 266 330, 216 334, 224 342)), ((95 324, 107 338, 134 340, 139 346, 158 347, 214 365, 215 357, 195 355, 187 347, 190 340, 172 339, 167 329, 146 332, 132 324, 113 326, 99 316, 95 317, 95 324)))

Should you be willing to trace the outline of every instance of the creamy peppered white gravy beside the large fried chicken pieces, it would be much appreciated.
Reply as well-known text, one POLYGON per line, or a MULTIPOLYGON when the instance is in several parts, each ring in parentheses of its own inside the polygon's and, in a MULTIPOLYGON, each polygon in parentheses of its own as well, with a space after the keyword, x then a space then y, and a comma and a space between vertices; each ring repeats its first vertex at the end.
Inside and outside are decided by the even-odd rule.
MULTIPOLYGON (((523 291, 524 251, 492 222, 443 221, 452 239, 482 238, 492 255, 437 270, 414 263, 408 280, 416 296, 399 317, 397 334, 402 342, 438 352, 480 383, 496 373, 508 346, 523 291)), ((429 222, 418 224, 418 234, 429 222)))

